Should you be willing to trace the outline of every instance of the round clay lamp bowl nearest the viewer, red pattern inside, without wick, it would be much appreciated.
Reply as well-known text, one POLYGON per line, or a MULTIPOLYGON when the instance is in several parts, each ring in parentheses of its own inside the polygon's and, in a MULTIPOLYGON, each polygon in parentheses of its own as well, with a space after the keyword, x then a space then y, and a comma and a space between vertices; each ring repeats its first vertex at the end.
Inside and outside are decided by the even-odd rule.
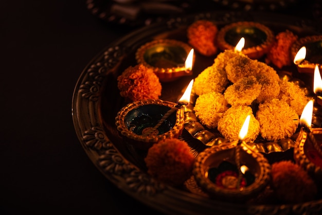
POLYGON ((242 143, 240 165, 244 172, 240 186, 237 186, 239 171, 235 162, 236 146, 237 142, 212 146, 196 157, 193 175, 199 186, 212 198, 245 202, 257 196, 270 182, 271 165, 267 159, 242 143))

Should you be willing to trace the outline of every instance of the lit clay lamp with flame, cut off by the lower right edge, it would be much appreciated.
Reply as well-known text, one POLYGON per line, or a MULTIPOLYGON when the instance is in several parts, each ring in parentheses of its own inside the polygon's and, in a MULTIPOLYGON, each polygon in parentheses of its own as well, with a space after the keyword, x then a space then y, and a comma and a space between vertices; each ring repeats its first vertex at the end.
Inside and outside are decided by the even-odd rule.
POLYGON ((308 102, 300 118, 301 130, 294 146, 294 160, 317 182, 321 182, 322 128, 311 128, 313 102, 308 102))

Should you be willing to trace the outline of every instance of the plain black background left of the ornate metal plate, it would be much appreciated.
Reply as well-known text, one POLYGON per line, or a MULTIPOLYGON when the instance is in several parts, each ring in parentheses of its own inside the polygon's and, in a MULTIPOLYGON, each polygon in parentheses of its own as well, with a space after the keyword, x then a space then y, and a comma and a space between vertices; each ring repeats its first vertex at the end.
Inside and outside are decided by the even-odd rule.
MULTIPOLYGON (((303 2, 281 12, 316 19, 303 2)), ((133 28, 98 19, 85 0, 2 1, 0 18, 0 214, 158 214, 96 169, 71 117, 83 68, 133 28)))

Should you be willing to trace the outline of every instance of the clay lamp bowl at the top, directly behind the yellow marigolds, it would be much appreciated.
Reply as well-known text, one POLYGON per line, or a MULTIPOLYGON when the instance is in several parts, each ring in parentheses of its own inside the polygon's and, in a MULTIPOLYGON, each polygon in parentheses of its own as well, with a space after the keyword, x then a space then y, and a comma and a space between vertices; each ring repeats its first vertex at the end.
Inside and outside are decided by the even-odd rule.
POLYGON ((241 52, 252 59, 259 59, 267 53, 275 39, 273 31, 265 25, 256 22, 237 22, 219 30, 218 47, 222 51, 234 50, 242 37, 245 38, 245 46, 241 52))

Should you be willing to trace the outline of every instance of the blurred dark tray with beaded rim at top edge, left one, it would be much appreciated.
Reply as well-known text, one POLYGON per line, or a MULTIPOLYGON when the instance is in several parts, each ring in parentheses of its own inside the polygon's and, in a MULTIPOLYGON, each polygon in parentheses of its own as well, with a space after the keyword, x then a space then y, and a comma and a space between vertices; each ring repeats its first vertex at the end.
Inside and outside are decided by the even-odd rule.
POLYGON ((195 0, 87 0, 93 15, 111 24, 139 27, 195 12, 195 0))

